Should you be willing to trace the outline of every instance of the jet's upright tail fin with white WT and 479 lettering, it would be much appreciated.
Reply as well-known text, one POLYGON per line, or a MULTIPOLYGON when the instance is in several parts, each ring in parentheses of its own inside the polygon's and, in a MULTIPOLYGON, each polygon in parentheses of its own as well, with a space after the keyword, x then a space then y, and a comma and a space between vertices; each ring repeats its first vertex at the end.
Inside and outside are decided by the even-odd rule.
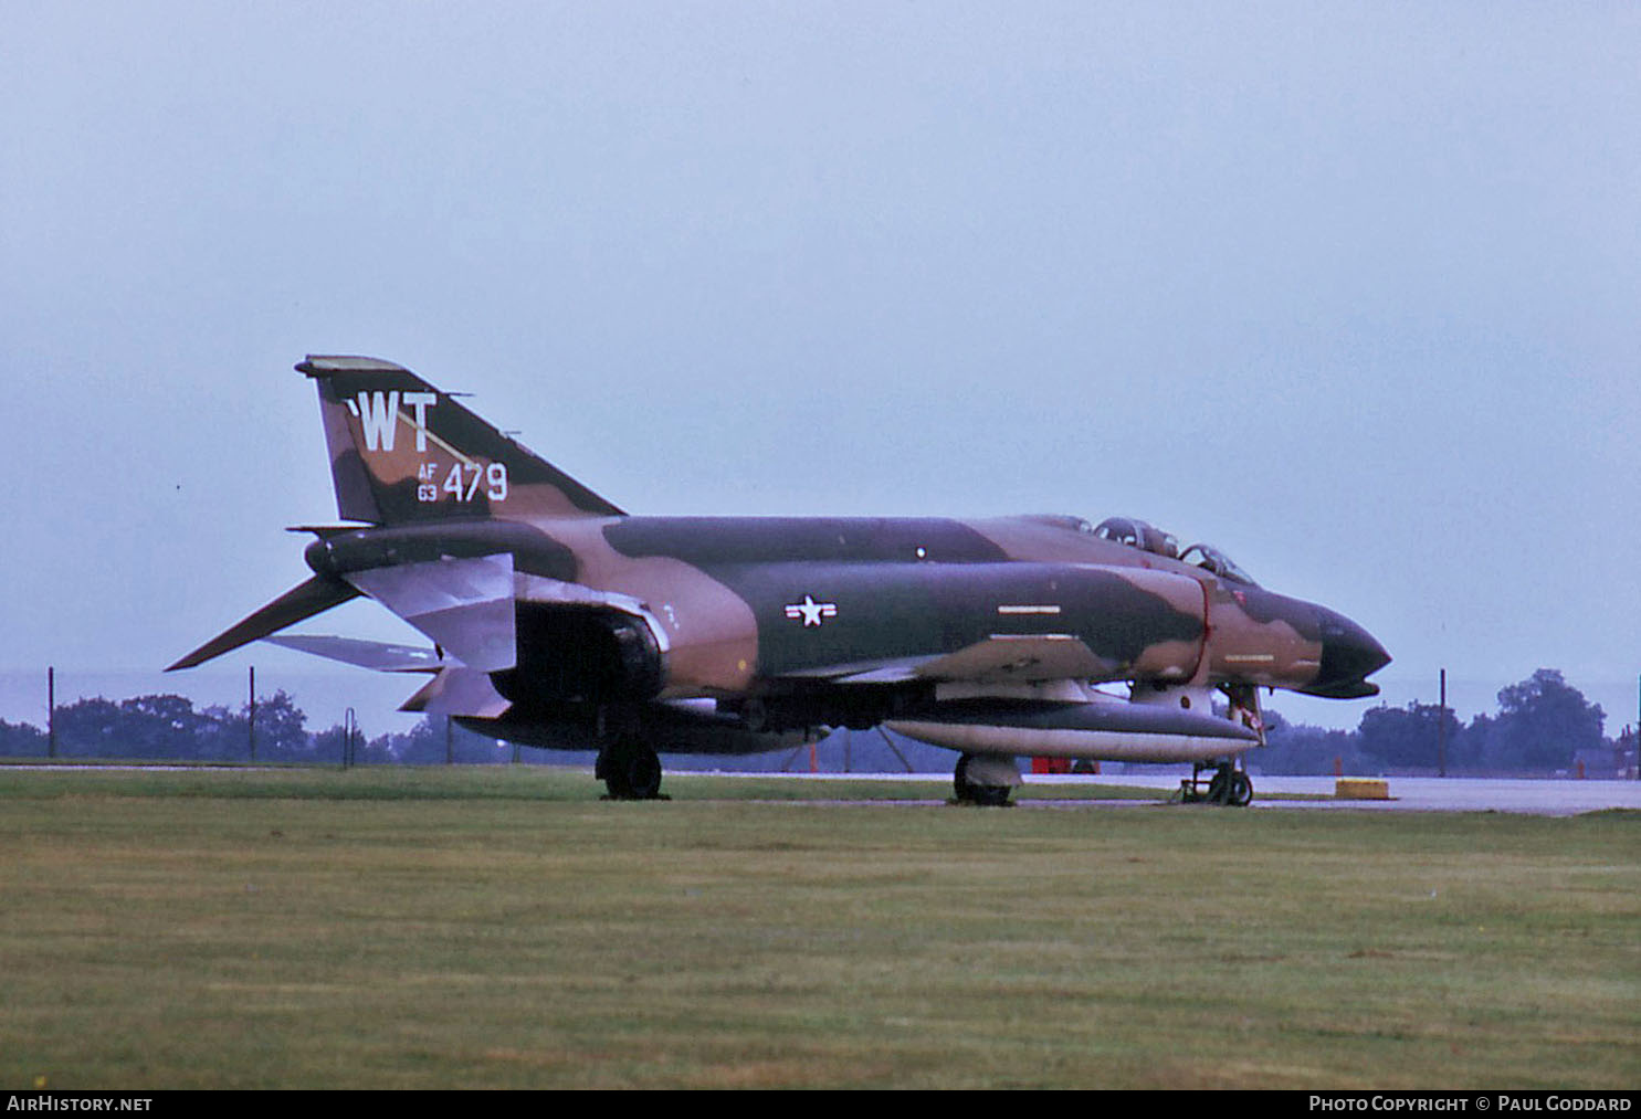
POLYGON ((346 520, 620 517, 622 510, 404 366, 313 356, 320 415, 346 520))

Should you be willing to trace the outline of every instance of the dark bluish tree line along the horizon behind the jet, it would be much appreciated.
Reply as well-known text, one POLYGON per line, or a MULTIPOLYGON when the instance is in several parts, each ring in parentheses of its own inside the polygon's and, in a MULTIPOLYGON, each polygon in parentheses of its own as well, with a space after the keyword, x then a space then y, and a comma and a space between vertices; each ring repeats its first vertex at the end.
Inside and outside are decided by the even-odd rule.
MULTIPOLYGON (((251 743, 258 761, 340 763, 348 732, 341 725, 307 730, 307 715, 284 691, 258 699, 254 733, 251 706, 195 709, 184 696, 80 699, 56 710, 57 756, 174 758, 189 761, 246 761, 251 743)), ((1411 702, 1378 706, 1362 714, 1355 730, 1326 730, 1290 724, 1265 710, 1267 740, 1249 761, 1264 773, 1387 773, 1406 770, 1447 773, 1561 773, 1582 758, 1634 753, 1634 733, 1608 740, 1605 712, 1567 684, 1552 668, 1498 692, 1498 710, 1462 724, 1451 709, 1411 702)), ((374 765, 437 765, 507 761, 515 751, 441 717, 425 717, 404 733, 354 733, 351 758, 374 765)), ((46 756, 46 730, 0 720, 0 756, 46 756)), ((921 753, 912 747, 914 753, 921 753)), ((542 760, 523 750, 520 760, 542 760)), ((776 758, 779 755, 766 755, 776 758)), ((1592 773, 1597 776, 1598 773, 1592 773)))

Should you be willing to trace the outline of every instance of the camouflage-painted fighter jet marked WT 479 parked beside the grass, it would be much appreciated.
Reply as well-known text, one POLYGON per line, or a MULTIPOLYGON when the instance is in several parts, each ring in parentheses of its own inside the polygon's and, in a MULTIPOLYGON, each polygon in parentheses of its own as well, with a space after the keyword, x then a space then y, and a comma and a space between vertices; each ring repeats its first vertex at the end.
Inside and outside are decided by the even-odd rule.
POLYGON ((1357 699, 1390 661, 1341 614, 1139 520, 635 517, 409 369, 297 371, 354 523, 304 527, 313 576, 171 668, 269 638, 427 673, 404 710, 597 750, 614 797, 658 794, 658 751, 888 727, 962 755, 960 801, 1006 802, 1035 755, 1190 761, 1191 789, 1246 804, 1259 687, 1357 699), (269 637, 358 596, 433 646, 269 637))

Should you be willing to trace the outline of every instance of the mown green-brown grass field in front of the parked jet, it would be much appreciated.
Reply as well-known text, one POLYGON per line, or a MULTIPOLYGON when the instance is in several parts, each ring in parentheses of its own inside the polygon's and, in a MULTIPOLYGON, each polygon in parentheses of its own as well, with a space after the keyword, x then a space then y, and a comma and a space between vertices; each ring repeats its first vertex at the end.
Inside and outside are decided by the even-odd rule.
POLYGON ((1636 814, 809 788, 0 770, 0 1088, 1641 1081, 1636 814))

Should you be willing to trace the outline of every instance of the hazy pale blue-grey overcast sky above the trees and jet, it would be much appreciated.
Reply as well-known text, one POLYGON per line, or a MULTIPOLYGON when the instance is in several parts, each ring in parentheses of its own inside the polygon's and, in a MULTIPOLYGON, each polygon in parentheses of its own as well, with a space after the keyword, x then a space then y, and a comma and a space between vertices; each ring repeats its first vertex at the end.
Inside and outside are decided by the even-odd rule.
POLYGON ((1633 3, 3 5, 0 661, 299 581, 290 366, 366 353, 637 512, 1139 515, 1393 702, 1557 666, 1615 730, 1638 61, 1633 3))

